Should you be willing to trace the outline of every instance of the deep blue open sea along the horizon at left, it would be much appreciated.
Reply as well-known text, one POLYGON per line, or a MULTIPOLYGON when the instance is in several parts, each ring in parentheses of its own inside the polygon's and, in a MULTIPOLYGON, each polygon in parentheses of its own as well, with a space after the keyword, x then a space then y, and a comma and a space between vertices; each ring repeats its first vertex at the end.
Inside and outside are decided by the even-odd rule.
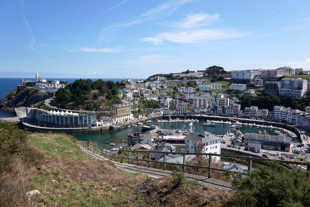
MULTIPOLYGON (((33 78, 0 78, 0 100, 5 97, 9 92, 11 92, 12 90, 14 90, 18 85, 21 84, 21 79, 24 80, 31 80, 34 81, 35 77, 33 78)), ((83 79, 87 79, 87 78, 83 78, 83 79)), ((78 78, 47 78, 47 80, 59 80, 59 81, 65 81, 68 83, 73 83, 75 80, 79 80, 78 78)), ((98 79, 92 79, 92 81, 98 80, 98 79)), ((117 81, 121 81, 124 80, 123 78, 103 78, 103 81, 113 81, 113 82, 117 82, 117 81)), ((133 79, 135 80, 135 79, 133 79)), ((141 79, 138 79, 141 80, 141 79)), ((15 114, 12 114, 10 111, 1 111, 0 110, 0 117, 6 117, 6 116, 15 116, 15 114)))

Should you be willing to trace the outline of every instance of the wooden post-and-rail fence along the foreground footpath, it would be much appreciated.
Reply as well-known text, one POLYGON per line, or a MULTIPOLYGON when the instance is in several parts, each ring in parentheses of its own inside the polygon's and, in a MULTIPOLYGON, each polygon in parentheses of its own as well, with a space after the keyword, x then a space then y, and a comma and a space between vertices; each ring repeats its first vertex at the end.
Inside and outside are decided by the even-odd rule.
MULTIPOLYGON (((185 172, 186 167, 193 167, 193 168, 200 168, 200 169, 208 169, 208 178, 211 178, 211 172, 212 170, 216 171, 221 171, 221 172, 226 172, 226 169, 220 169, 220 168, 215 168, 212 167, 212 157, 225 157, 229 159, 240 159, 240 160, 246 160, 247 162, 247 167, 248 167, 248 173, 252 170, 252 162, 253 161, 259 161, 259 162, 264 162, 266 161, 265 158, 258 158, 258 157, 246 157, 246 156, 237 156, 237 155, 220 155, 220 154, 212 154, 212 153, 184 153, 184 152, 162 152, 162 151, 129 151, 129 150, 115 150, 111 151, 110 149, 104 148, 102 146, 98 146, 95 144, 92 144, 90 142, 82 142, 82 147, 84 149, 87 149, 89 151, 93 151, 94 153, 97 153, 101 156, 105 156, 106 158, 108 157, 110 160, 112 159, 121 159, 121 160, 128 160, 128 163, 131 164, 132 160, 137 161, 137 165, 139 165, 140 161, 144 161, 148 164, 148 167, 151 167, 151 163, 162 163, 163 164, 163 170, 166 170, 166 164, 171 164, 171 165, 177 165, 181 166, 183 169, 183 172, 185 172), (118 153, 120 152, 120 154, 118 153), (123 152, 128 152, 128 156, 124 156, 123 152), (137 153, 135 156, 131 156, 131 153, 137 153), (153 153, 162 153, 163 154, 163 161, 155 161, 151 160, 151 154, 153 153), (147 154, 147 160, 142 159, 141 154, 147 154), (170 163, 166 162, 166 156, 169 154, 174 154, 174 155, 183 155, 183 163, 170 163), (190 165, 186 164, 186 155, 201 155, 205 156, 208 158, 209 163, 208 166, 199 166, 199 165, 190 165)), ((307 167, 307 178, 310 178, 310 163, 308 162, 297 162, 297 161, 286 161, 286 160, 276 160, 280 164, 294 164, 294 165, 300 165, 300 166, 306 166, 307 167)), ((243 173, 246 174, 246 173, 243 173)))

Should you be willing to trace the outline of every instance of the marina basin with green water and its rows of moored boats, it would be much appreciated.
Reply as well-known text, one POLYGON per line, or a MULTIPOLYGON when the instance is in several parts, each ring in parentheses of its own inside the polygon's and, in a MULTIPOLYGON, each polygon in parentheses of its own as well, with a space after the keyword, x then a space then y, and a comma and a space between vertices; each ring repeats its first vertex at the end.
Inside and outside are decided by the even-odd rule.
MULTIPOLYGON (((160 119, 158 119, 160 120, 160 119)), ((287 137, 292 138, 292 142, 299 142, 297 139, 297 136, 294 133, 291 133, 288 130, 273 127, 266 124, 248 124, 248 123, 242 123, 242 122, 236 122, 236 123, 230 123, 229 121, 214 121, 215 125, 213 127, 207 127, 204 126, 203 123, 206 122, 206 120, 197 120, 195 122, 184 122, 181 121, 181 119, 178 119, 179 121, 170 121, 167 120, 167 122, 160 121, 158 122, 156 119, 152 120, 153 122, 148 121, 148 124, 137 124, 135 127, 126 127, 120 131, 111 131, 111 132, 102 132, 102 133, 94 133, 94 134, 81 134, 81 135, 75 135, 78 140, 80 141, 93 141, 97 142, 99 146, 106 147, 108 149, 112 147, 121 147, 121 146, 127 146, 127 135, 130 133, 136 133, 136 132, 143 132, 142 126, 148 126, 157 124, 158 128, 161 129, 179 129, 182 131, 189 131, 192 123, 192 129, 195 132, 210 132, 214 135, 228 135, 231 136, 233 133, 231 132, 231 129, 234 129, 234 132, 237 132, 238 130, 241 131, 241 133, 268 133, 269 135, 278 135, 275 130, 282 132, 282 134, 285 134, 287 137), (105 143, 108 142, 108 143, 105 143), (115 146, 111 146, 109 143, 115 143, 115 146)))

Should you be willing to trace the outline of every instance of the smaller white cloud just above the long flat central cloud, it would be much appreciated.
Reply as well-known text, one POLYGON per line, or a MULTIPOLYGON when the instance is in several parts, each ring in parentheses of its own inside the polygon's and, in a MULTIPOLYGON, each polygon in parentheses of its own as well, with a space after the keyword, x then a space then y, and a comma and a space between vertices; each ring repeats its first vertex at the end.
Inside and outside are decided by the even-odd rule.
POLYGON ((193 28, 208 26, 219 20, 219 14, 191 14, 186 15, 182 22, 169 24, 170 27, 193 28))

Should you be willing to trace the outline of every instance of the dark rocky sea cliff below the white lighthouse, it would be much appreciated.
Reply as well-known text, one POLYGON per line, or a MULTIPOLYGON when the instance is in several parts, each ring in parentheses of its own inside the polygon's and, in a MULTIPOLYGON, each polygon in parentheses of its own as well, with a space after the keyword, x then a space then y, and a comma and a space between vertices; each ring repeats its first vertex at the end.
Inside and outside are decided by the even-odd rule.
POLYGON ((19 86, 0 100, 0 110, 13 111, 15 107, 30 106, 51 97, 50 92, 19 86))

